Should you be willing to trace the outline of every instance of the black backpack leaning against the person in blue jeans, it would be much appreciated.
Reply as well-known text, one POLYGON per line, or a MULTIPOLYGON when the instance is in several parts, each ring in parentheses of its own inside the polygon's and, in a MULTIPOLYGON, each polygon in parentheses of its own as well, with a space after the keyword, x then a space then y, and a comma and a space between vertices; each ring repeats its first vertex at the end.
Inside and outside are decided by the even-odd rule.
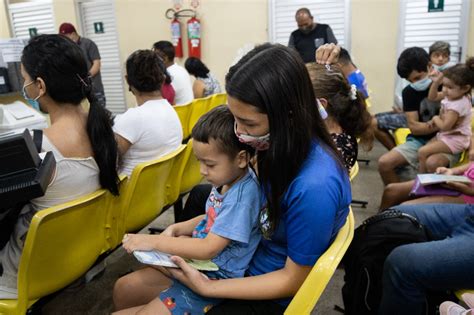
POLYGON ((416 218, 398 210, 387 210, 365 220, 354 231, 354 239, 342 259, 344 313, 377 314, 385 258, 397 246, 430 239, 430 233, 416 218))

